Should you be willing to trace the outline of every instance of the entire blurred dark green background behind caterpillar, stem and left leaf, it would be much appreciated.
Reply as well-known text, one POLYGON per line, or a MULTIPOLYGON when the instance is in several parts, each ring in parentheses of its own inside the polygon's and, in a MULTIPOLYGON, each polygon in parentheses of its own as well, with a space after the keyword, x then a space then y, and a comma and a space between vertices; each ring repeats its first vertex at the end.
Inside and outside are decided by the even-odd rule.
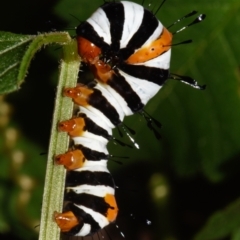
MULTIPOLYGON (((0 30, 74 29, 102 2, 4 1, 0 30)), ((193 43, 172 48, 171 72, 206 90, 169 80, 146 107, 162 123, 161 140, 136 115, 126 124, 140 150, 109 144, 111 154, 129 157, 109 163, 127 240, 240 240, 240 2, 168 0, 157 16, 169 26, 192 10, 207 18, 174 36, 193 43)), ((0 99, 0 239, 37 239, 60 59, 59 48, 39 52, 21 89, 0 99)), ((112 234, 124 239, 116 228, 112 234)))

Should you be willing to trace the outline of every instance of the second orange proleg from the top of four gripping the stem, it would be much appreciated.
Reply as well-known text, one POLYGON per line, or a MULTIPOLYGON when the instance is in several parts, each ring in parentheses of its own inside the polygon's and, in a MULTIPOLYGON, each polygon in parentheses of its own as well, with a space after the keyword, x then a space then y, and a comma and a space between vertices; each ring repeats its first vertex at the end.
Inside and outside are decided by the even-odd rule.
POLYGON ((80 137, 84 133, 85 121, 84 118, 72 118, 62 121, 58 124, 58 130, 67 132, 71 137, 80 137))

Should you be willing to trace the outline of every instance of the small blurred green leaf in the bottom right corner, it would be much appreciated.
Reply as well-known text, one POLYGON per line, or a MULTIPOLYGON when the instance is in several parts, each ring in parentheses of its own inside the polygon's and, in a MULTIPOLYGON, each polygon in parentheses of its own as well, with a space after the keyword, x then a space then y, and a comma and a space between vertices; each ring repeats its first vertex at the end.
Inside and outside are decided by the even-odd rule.
POLYGON ((226 209, 213 214, 206 223, 206 226, 197 234, 194 239, 217 240, 230 236, 233 233, 239 235, 239 223, 240 199, 231 203, 226 209))

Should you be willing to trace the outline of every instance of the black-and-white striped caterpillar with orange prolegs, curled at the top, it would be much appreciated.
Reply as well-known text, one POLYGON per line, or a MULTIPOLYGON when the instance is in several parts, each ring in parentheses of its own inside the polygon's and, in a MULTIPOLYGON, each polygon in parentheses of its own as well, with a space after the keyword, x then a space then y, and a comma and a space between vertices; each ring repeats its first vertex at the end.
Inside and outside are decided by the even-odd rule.
MULTIPOLYGON (((200 15, 194 23, 203 19, 200 15)), ((202 87, 189 77, 169 72, 173 34, 137 3, 105 2, 76 33, 78 53, 94 81, 63 91, 79 113, 58 126, 73 145, 55 157, 68 171, 67 204, 63 213, 54 213, 54 219, 61 232, 87 236, 114 222, 118 214, 115 184, 107 169, 106 145, 113 139, 112 129, 123 126, 124 117, 137 112, 151 125, 143 108, 167 79, 202 87)))

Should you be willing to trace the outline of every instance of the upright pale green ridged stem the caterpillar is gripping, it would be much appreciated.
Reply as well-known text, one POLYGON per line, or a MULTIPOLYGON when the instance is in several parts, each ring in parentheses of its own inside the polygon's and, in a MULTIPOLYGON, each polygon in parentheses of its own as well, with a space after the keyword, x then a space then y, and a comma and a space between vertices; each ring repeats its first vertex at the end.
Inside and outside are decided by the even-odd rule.
POLYGON ((60 237, 59 228, 53 221, 53 213, 62 211, 65 170, 62 166, 54 165, 53 158, 68 149, 68 136, 57 131, 57 124, 72 117, 73 103, 71 99, 62 96, 62 89, 66 86, 73 87, 77 82, 80 60, 76 41, 72 40, 64 45, 63 53, 50 137, 39 240, 58 240, 60 237))

